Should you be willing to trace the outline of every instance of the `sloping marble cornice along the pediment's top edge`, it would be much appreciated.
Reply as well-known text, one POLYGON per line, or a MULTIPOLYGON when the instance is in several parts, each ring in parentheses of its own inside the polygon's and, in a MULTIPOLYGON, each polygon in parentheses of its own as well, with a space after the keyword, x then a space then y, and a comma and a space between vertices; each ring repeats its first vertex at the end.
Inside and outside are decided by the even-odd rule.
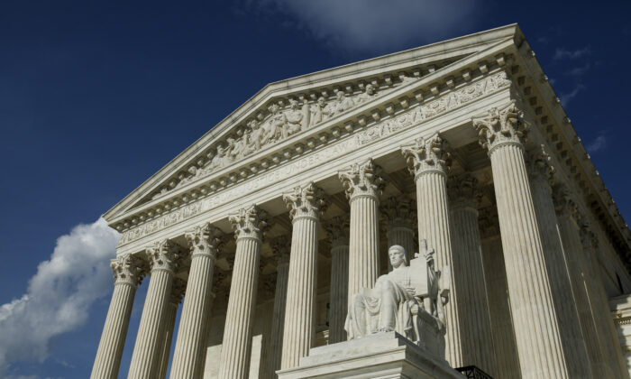
POLYGON ((430 63, 440 63, 440 61, 444 60, 460 60, 462 57, 476 54, 498 42, 513 38, 516 40, 523 38, 517 24, 271 83, 262 88, 261 91, 237 108, 231 115, 225 117, 223 121, 215 125, 195 143, 192 143, 183 153, 178 154, 176 158, 152 175, 141 186, 134 189, 130 195, 116 204, 114 208, 107 211, 104 215, 105 219, 112 223, 120 218, 130 207, 133 207, 142 197, 146 196, 147 191, 151 190, 159 182, 168 181, 174 169, 182 169, 182 167, 195 162, 197 156, 205 152, 210 144, 215 143, 215 140, 218 138, 231 133, 236 125, 244 124, 261 106, 269 104, 276 97, 299 96, 301 91, 309 92, 307 89, 320 90, 322 87, 334 86, 335 84, 343 87, 344 80, 363 79, 370 82, 372 79, 378 79, 386 82, 388 80, 387 76, 390 76, 390 78, 396 77, 399 70, 408 70, 409 73, 414 75, 414 70, 416 69, 418 75, 421 76, 426 72, 431 73, 432 66, 427 66, 430 63))

